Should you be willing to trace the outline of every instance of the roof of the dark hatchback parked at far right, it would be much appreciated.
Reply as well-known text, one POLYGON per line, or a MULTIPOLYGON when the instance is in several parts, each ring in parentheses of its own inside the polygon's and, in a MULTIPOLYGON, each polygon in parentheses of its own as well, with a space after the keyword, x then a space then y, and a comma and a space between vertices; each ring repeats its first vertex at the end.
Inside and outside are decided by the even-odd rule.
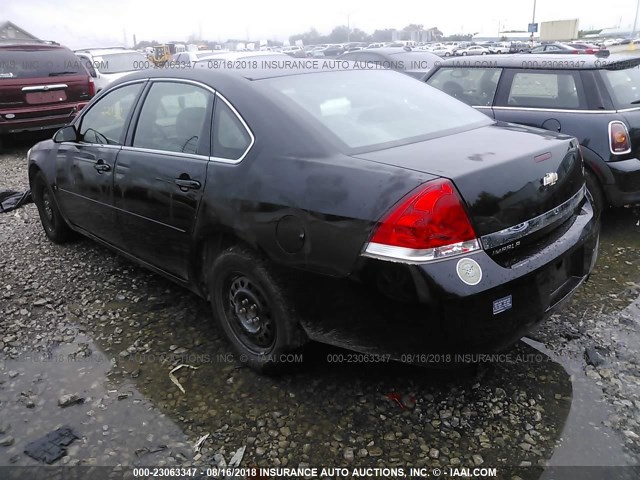
POLYGON ((513 55, 484 55, 482 60, 461 60, 460 58, 443 59, 440 68, 465 67, 487 68, 545 68, 550 70, 590 70, 616 69, 625 66, 640 65, 640 57, 616 53, 608 57, 576 54, 535 54, 521 53, 513 55), (538 62, 537 64, 535 62, 538 62), (548 64, 548 66, 547 66, 548 64))

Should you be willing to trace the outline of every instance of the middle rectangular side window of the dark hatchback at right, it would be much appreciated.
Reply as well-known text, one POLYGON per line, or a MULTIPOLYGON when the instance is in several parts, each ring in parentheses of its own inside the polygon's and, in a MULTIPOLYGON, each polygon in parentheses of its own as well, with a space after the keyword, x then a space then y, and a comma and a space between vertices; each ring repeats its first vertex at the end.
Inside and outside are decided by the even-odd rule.
POLYGON ((507 98, 510 107, 584 108, 574 72, 516 72, 507 98))

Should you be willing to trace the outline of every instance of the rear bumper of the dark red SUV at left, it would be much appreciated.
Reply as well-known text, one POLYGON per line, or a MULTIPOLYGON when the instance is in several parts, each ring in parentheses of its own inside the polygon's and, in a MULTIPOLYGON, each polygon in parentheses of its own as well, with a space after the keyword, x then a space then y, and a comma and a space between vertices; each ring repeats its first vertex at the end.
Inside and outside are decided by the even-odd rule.
POLYGON ((53 130, 71 122, 87 102, 74 102, 55 107, 12 109, 0 111, 0 135, 53 130), (6 118, 7 114, 14 118, 6 118))

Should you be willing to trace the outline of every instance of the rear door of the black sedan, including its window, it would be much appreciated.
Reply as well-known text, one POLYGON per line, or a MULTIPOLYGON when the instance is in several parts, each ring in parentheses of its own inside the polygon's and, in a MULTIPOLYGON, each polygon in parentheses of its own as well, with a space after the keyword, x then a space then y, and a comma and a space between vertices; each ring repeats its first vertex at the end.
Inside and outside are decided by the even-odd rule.
POLYGON ((181 279, 211 154, 214 100, 200 84, 152 81, 116 165, 114 200, 127 250, 181 279))

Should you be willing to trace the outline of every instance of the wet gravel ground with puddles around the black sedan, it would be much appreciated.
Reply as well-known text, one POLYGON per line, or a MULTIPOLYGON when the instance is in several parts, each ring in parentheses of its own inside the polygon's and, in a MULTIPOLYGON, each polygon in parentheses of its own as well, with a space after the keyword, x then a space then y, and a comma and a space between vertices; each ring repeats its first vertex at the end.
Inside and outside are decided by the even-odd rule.
MULTIPOLYGON (((27 148, 0 154, 0 188, 26 187, 27 148)), ((242 466, 638 465, 639 219, 608 212, 591 280, 509 361, 338 364, 311 345, 270 378, 236 366, 195 295, 89 240, 50 243, 33 204, 0 214, 0 465, 37 465, 25 445, 62 425, 71 465, 243 447, 242 466), (184 394, 180 364, 197 367, 175 374, 184 394)))

